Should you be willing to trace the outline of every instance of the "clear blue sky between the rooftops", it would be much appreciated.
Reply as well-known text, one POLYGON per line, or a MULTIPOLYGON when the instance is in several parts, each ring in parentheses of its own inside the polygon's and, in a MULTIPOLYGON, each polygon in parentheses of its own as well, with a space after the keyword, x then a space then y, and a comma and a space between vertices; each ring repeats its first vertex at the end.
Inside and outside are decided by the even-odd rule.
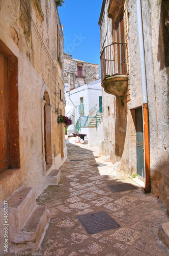
POLYGON ((100 65, 99 16, 102 0, 65 0, 58 7, 64 25, 64 52, 100 65))

